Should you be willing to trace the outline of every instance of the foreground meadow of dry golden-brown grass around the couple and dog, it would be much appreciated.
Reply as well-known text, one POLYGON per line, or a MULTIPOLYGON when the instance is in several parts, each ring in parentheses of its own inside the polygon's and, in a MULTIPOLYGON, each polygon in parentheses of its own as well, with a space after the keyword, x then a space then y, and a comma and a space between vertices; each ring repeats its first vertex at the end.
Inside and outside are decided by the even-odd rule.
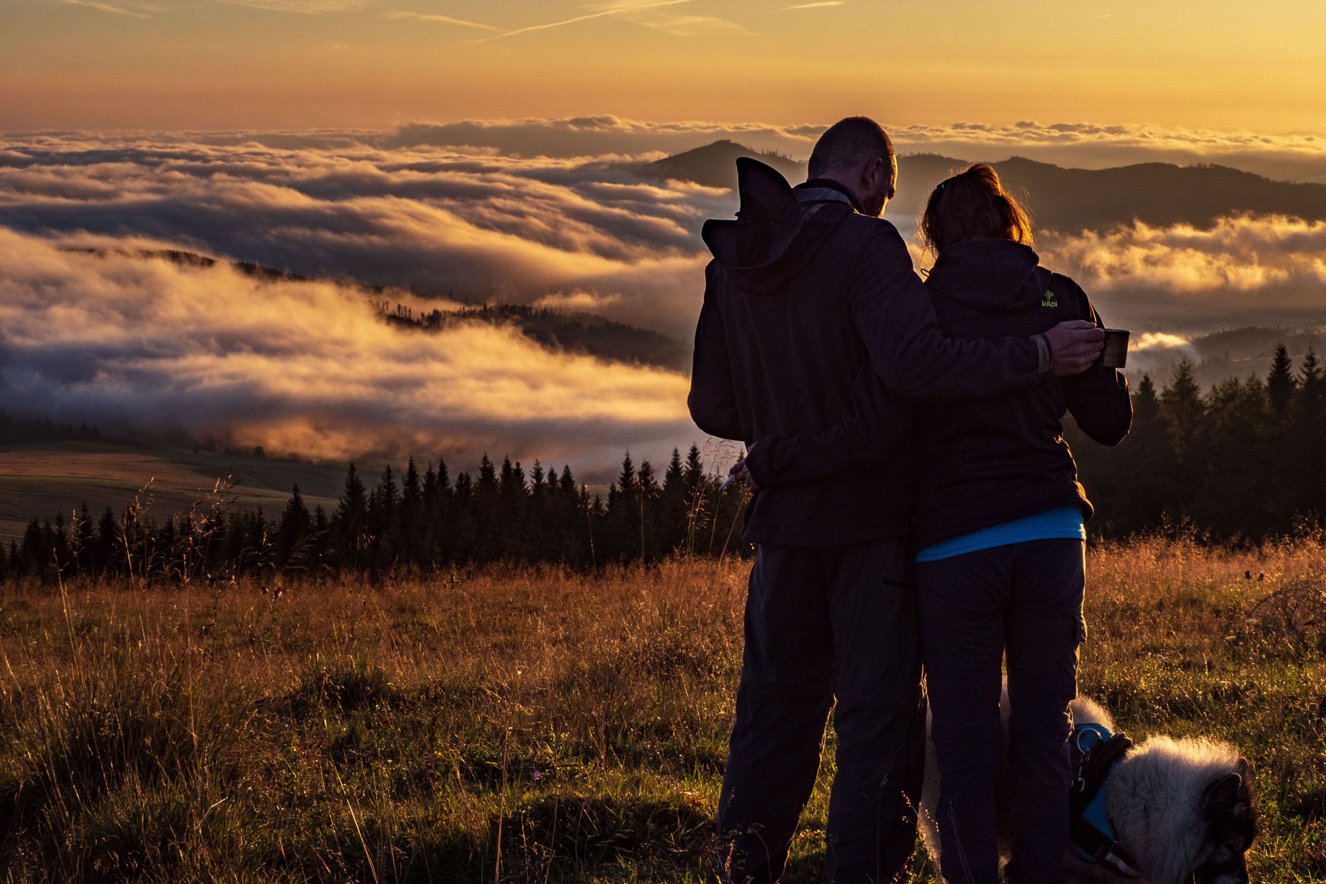
MULTIPOLYGON (((0 590, 3 876, 697 881, 745 571, 0 590)), ((1089 573, 1083 693, 1134 738, 1236 744, 1253 880, 1326 880, 1322 542, 1089 573)), ((831 774, 788 881, 818 880, 831 774)))

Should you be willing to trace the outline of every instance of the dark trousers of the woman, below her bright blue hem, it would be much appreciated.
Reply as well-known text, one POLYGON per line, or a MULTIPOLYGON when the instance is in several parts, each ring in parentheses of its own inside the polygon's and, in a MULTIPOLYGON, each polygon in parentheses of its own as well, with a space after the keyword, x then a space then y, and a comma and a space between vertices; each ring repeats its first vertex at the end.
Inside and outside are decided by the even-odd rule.
POLYGON ((997 884, 1000 659, 1008 668, 1009 884, 1063 880, 1069 702, 1077 694, 1083 545, 1045 539, 916 566, 948 884, 997 884))

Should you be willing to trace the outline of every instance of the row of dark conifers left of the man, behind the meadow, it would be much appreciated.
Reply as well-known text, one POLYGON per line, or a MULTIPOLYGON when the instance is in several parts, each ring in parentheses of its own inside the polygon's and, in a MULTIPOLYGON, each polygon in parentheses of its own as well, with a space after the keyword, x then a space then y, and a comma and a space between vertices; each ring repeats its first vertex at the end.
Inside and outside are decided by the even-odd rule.
POLYGON ((526 473, 509 457, 485 455, 477 472, 452 481, 447 464, 420 472, 411 457, 365 481, 350 464, 333 512, 312 510, 296 486, 281 514, 225 506, 224 493, 155 524, 135 505, 94 516, 85 505, 69 524, 32 520, 21 541, 0 550, 0 579, 69 575, 228 579, 237 573, 294 577, 385 574, 451 565, 557 562, 593 569, 654 562, 676 551, 749 554, 739 518, 745 494, 705 470, 700 449, 672 459, 659 477, 630 452, 607 498, 538 461, 526 473))

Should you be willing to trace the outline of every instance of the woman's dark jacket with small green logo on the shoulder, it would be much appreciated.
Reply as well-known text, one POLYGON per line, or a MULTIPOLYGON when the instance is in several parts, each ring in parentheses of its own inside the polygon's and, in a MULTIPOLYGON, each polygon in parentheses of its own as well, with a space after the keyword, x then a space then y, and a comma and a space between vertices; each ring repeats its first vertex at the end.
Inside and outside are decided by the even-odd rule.
MULTIPOLYGON (((1029 335, 1066 319, 1102 325, 1077 282, 1040 266, 1030 247, 1009 240, 947 247, 926 288, 940 327, 955 338, 1029 335)), ((923 404, 916 543, 928 546, 1058 506, 1081 506, 1090 518, 1091 505, 1061 436, 1065 412, 1095 441, 1115 445, 1132 423, 1128 384, 1114 368, 1097 364, 998 396, 923 404)))

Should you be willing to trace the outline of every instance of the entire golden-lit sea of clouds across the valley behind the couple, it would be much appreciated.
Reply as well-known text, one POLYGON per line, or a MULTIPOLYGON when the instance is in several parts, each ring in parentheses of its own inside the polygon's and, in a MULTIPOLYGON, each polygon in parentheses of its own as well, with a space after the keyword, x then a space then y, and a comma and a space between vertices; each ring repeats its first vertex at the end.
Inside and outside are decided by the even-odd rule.
MULTIPOLYGON (((625 448, 663 459, 703 441, 683 375, 477 323, 399 329, 362 286, 394 286, 382 297, 418 309, 536 304, 687 338, 700 224, 736 200, 630 164, 719 138, 804 158, 821 129, 595 117, 0 137, 0 407, 328 459, 488 451, 598 476, 625 448), (316 281, 260 281, 225 260, 316 281)), ((900 151, 964 159, 1221 162, 1326 180, 1326 146, 1310 138, 1036 123, 892 134, 900 151)), ((912 219, 898 223, 910 233, 912 219)), ((1143 359, 1201 331, 1326 322, 1326 224, 1135 224, 1046 233, 1040 250, 1113 325, 1138 331, 1143 359)))

